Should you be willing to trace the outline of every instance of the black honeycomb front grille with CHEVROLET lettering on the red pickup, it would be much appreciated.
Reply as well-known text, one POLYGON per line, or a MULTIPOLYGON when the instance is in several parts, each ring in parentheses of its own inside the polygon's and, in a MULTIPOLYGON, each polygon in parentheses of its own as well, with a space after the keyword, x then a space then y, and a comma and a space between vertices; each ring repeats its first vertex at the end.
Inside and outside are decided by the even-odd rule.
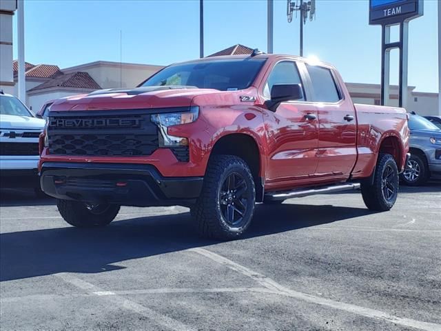
POLYGON ((150 114, 92 113, 68 112, 68 116, 50 116, 49 153, 124 157, 150 155, 158 148, 158 131, 150 121, 150 114))

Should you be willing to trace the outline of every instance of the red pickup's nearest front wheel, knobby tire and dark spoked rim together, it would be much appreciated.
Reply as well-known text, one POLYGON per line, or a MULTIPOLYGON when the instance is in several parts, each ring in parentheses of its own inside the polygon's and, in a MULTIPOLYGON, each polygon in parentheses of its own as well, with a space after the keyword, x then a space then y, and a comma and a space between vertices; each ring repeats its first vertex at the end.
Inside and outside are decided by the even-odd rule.
POLYGON ((233 155, 214 155, 192 215, 203 237, 229 240, 240 237, 252 221, 256 190, 249 167, 233 155))

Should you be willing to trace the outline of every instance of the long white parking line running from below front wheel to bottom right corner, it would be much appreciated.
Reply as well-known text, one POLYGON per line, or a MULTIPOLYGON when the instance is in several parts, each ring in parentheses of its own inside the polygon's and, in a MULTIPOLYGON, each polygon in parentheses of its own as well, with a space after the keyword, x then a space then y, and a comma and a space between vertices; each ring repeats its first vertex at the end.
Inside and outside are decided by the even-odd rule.
POLYGON ((201 254, 204 257, 211 259, 212 261, 225 265, 227 268, 240 272, 241 274, 245 274, 245 276, 254 279, 254 281, 257 281, 258 283, 260 283, 260 285, 263 285, 265 288, 268 288, 271 291, 285 295, 287 297, 299 299, 302 301, 308 301, 311 303, 316 303, 318 305, 325 305, 330 308, 344 310, 346 312, 352 312, 354 314, 359 314, 373 319, 380 319, 383 321, 400 324, 410 328, 417 328, 426 331, 441 331, 441 324, 416 321, 414 319, 404 319, 402 317, 396 317, 391 314, 388 314, 387 312, 382 312, 380 310, 365 308, 359 305, 353 305, 351 303, 344 303, 340 301, 334 301, 331 299, 315 297, 314 295, 311 294, 290 290, 289 288, 285 288, 285 286, 280 285, 273 279, 266 277, 263 274, 259 274, 258 272, 255 272, 247 267, 244 267, 243 265, 231 261, 226 257, 222 257, 219 254, 216 254, 209 250, 205 250, 204 248, 190 248, 188 251, 194 252, 196 254, 201 254))

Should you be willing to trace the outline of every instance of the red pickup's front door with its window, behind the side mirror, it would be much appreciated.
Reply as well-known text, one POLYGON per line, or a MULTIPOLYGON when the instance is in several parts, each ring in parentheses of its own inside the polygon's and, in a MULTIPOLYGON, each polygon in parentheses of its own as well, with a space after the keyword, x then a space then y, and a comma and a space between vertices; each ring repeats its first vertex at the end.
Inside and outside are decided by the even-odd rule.
MULTIPOLYGON (((270 99, 272 86, 300 84, 304 86, 297 63, 283 60, 276 63, 267 77, 263 96, 270 99)), ((289 188, 307 180, 317 168, 318 120, 313 103, 303 98, 281 103, 276 112, 265 112, 269 155, 267 161, 267 188, 289 188)))

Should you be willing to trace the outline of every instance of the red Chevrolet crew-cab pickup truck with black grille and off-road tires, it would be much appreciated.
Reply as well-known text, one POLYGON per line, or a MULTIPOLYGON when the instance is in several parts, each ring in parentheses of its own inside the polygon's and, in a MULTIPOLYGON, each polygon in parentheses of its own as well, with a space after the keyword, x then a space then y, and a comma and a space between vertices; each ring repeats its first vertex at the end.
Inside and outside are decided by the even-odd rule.
POLYGON ((361 188, 367 208, 389 210, 408 141, 405 110, 354 105, 334 67, 254 52, 55 101, 39 171, 71 225, 185 205, 203 236, 234 239, 255 203, 361 188))

